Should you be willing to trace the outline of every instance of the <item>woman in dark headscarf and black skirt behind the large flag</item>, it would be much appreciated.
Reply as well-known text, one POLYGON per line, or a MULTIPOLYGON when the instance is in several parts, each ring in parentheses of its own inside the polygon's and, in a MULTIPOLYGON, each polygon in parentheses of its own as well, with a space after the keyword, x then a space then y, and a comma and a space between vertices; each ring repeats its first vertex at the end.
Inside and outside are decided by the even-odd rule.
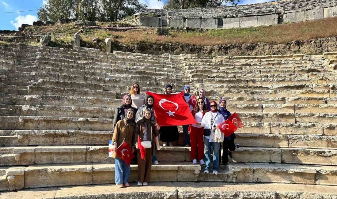
MULTIPOLYGON (((172 93, 172 86, 166 85, 165 94, 172 93)), ((177 126, 167 126, 160 128, 160 140, 163 141, 163 146, 173 146, 174 141, 179 140, 179 131, 177 126)))

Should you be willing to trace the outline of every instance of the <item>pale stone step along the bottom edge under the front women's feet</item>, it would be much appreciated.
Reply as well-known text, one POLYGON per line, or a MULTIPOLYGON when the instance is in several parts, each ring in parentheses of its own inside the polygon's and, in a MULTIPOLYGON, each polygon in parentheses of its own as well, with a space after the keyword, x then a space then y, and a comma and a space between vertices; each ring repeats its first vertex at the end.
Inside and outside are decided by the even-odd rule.
POLYGON ((144 187, 131 183, 130 187, 120 189, 115 184, 86 185, 58 188, 37 188, 16 192, 3 192, 1 199, 7 198, 95 198, 98 195, 106 198, 265 198, 298 199, 334 198, 337 195, 336 186, 301 185, 281 183, 223 183, 223 182, 153 182, 144 187), (126 190, 126 191, 125 191, 126 190), (141 196, 140 196, 141 194, 141 196))

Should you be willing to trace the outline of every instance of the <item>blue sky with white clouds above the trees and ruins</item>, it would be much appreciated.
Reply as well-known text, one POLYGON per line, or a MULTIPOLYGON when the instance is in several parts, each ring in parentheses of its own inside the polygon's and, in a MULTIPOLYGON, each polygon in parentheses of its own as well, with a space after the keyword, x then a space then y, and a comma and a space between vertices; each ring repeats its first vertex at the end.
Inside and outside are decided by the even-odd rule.
MULTIPOLYGON (((37 18, 37 10, 47 0, 0 0, 0 30, 18 30, 21 24, 32 25, 37 18), (28 12, 19 12, 24 10, 34 10, 28 12), (13 12, 13 13, 2 13, 13 12)), ((240 0, 239 5, 262 3, 275 0, 240 0)), ((148 8, 161 8, 162 2, 158 0, 141 0, 146 3, 148 8)))

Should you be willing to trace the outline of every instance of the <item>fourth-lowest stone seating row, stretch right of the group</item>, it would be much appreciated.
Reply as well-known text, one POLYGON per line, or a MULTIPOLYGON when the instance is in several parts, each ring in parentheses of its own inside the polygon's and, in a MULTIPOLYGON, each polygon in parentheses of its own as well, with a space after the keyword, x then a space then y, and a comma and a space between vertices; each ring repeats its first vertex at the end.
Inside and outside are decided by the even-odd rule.
POLYGON ((239 128, 237 132, 255 134, 337 135, 335 124, 243 122, 243 125, 244 127, 239 128))

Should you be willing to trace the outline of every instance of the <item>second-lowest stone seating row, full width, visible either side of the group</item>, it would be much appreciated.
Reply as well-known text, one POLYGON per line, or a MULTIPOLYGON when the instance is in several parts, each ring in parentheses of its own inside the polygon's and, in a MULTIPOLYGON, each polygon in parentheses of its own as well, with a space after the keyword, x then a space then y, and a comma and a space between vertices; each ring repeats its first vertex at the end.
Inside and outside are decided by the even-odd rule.
MULTIPOLYGON (((52 145, 0 147, 0 166, 114 162, 108 146, 52 145)), ((337 150, 332 148, 240 147, 232 152, 235 162, 337 165, 337 150)), ((191 162, 189 147, 161 147, 158 161, 191 162)))

